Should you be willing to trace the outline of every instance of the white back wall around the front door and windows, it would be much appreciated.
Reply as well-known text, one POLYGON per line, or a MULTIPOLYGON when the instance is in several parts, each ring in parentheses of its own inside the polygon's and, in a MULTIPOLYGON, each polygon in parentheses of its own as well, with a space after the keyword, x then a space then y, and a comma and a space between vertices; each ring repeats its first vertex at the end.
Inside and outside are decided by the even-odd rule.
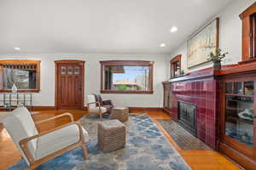
POLYGON ((41 92, 34 95, 34 105, 55 105, 55 60, 80 59, 85 61, 85 101, 87 94, 100 93, 101 60, 150 60, 154 61, 154 94, 102 94, 103 99, 113 99, 117 106, 162 107, 166 80, 166 55, 161 54, 6 54, 0 59, 41 60, 41 92))

